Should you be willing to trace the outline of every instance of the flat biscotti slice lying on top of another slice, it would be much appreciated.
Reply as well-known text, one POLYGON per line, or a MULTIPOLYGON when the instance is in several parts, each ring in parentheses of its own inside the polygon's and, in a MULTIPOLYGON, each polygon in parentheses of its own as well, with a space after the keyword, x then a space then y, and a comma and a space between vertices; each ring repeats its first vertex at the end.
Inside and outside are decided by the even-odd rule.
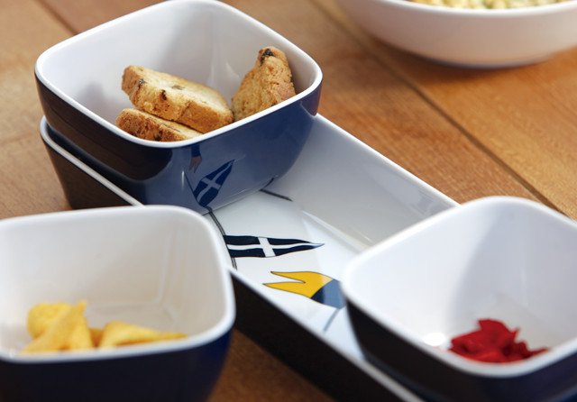
POLYGON ((233 113, 215 89, 140 66, 124 69, 123 90, 137 108, 166 120, 210 132, 233 122, 233 113))

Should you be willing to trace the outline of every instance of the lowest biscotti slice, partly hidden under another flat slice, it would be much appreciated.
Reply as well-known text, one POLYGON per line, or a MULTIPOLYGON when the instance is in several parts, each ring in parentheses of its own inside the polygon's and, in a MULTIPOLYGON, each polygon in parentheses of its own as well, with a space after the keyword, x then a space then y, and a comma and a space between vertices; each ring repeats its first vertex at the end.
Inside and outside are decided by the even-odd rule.
POLYGON ((120 112, 116 125, 135 137, 151 141, 182 141, 202 135, 186 125, 170 122, 137 109, 124 109, 120 112))

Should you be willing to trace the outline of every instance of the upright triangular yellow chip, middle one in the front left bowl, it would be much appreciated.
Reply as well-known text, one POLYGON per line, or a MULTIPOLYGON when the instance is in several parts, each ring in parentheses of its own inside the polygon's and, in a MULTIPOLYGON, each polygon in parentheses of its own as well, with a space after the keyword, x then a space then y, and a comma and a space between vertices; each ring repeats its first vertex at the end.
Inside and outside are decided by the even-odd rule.
POLYGON ((26 346, 23 352, 58 352, 93 347, 84 316, 86 306, 86 301, 81 301, 67 313, 60 315, 50 327, 26 346))

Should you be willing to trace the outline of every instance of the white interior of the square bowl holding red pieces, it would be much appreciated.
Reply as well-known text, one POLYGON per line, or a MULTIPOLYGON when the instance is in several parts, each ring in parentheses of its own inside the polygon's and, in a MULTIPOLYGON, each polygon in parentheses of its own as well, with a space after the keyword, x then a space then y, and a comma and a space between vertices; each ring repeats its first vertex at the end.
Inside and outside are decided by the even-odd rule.
POLYGON ((577 335, 577 224, 522 200, 453 209, 353 264, 346 293, 416 343, 446 347, 480 318, 520 328, 530 348, 577 335))

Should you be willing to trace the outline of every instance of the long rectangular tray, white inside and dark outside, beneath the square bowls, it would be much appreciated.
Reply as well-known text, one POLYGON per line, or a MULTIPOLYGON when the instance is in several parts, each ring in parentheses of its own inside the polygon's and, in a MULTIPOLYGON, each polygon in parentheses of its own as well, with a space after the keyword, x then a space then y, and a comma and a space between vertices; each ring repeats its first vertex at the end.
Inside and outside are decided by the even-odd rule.
MULTIPOLYGON (((45 122, 41 136, 72 207, 142 205, 55 142, 45 122)), ((418 400, 365 360, 339 279, 355 255, 457 205, 317 115, 284 177, 206 215, 233 261, 237 328, 338 399, 418 400)))

